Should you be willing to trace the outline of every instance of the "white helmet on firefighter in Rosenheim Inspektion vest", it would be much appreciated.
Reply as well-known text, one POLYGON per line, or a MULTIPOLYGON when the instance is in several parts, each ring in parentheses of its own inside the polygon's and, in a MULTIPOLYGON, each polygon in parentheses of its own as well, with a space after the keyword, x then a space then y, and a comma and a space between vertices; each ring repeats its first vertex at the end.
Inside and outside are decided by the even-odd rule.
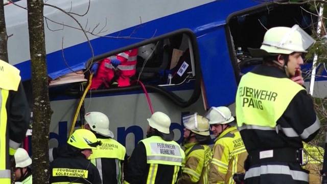
POLYGON ((88 112, 85 114, 85 121, 89 124, 91 130, 103 136, 113 138, 112 131, 109 130, 109 119, 102 112, 88 112))

